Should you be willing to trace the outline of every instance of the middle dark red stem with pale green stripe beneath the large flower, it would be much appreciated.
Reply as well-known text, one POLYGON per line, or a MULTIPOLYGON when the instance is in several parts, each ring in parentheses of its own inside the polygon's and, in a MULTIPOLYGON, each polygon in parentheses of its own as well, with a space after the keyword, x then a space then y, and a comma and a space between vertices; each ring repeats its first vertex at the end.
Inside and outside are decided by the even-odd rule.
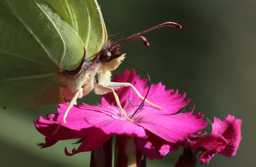
POLYGON ((137 167, 136 137, 116 136, 114 167, 137 167))

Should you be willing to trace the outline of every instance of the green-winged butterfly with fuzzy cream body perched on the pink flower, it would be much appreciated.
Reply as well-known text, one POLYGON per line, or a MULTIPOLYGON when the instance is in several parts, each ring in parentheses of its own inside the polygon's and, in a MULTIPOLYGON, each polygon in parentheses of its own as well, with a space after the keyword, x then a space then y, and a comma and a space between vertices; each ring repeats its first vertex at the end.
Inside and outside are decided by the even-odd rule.
POLYGON ((0 107, 24 109, 71 99, 64 123, 76 99, 93 89, 99 95, 112 92, 123 114, 116 89, 130 86, 144 99, 132 84, 110 81, 126 54, 120 44, 140 40, 149 46, 140 34, 181 28, 166 22, 112 43, 96 0, 0 0, 0 7, 0 107))

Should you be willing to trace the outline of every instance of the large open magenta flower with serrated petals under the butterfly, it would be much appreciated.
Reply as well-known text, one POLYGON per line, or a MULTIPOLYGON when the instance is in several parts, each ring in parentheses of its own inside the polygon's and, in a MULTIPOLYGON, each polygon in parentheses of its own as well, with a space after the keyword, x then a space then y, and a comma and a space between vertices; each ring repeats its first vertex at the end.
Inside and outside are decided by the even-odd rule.
MULTIPOLYGON (((148 90, 147 80, 140 79, 135 70, 125 70, 123 76, 116 74, 113 81, 130 82, 141 95, 146 95, 148 90)), ((124 112, 131 118, 142 99, 131 87, 121 88, 116 93, 124 112)), ((100 105, 73 106, 68 113, 67 124, 62 124, 62 118, 68 102, 66 105, 60 104, 57 109, 59 114, 47 116, 47 119, 40 117, 35 122, 36 129, 47 139, 46 143, 41 143, 40 146, 51 146, 58 140, 82 139, 80 146, 74 148, 72 153, 68 153, 65 148, 65 154, 72 156, 99 148, 113 135, 127 135, 137 137, 137 149, 140 153, 151 160, 161 159, 169 151, 177 150, 184 138, 206 126, 206 121, 201 120, 204 115, 192 115, 194 108, 186 113, 177 113, 190 101, 184 101, 185 95, 179 95, 178 91, 173 89, 165 90, 161 83, 151 85, 147 99, 163 107, 163 110, 144 103, 144 107, 132 117, 133 123, 123 116, 111 93, 102 96, 100 105)))

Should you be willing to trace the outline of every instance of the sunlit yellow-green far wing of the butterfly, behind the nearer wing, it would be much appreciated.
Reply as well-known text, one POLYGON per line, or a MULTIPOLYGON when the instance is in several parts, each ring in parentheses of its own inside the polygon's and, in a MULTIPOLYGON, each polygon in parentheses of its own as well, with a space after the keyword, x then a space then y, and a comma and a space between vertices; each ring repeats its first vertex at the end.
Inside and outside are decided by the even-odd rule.
POLYGON ((46 0, 76 31, 84 43, 86 60, 99 53, 107 41, 107 30, 100 7, 94 0, 46 0))

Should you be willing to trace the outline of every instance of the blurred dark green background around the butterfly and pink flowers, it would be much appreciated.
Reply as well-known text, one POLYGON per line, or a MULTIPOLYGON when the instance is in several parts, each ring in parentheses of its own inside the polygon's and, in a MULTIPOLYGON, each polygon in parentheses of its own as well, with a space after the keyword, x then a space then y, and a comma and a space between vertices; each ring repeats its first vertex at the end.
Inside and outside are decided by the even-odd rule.
MULTIPOLYGON (((254 166, 255 81, 256 81, 256 1, 104 1, 98 0, 109 37, 113 41, 135 34, 157 24, 173 21, 182 29, 164 27, 144 34, 150 42, 146 47, 139 41, 121 44, 126 61, 144 69, 153 83, 162 82, 167 89, 186 92, 195 104, 195 111, 221 120, 228 114, 242 119, 242 140, 236 156, 215 155, 202 166, 254 166), (254 165, 253 165, 254 164, 254 165)), ((115 72, 132 69, 122 64, 115 72)), ((140 73, 140 72, 138 72, 140 73)), ((141 74, 143 78, 146 78, 141 74)), ((100 102, 100 96, 90 94, 79 101, 100 102)), ((33 120, 40 115, 56 113, 54 106, 28 110, 0 112, 0 166, 89 166, 90 153, 68 157, 68 150, 78 147, 76 140, 60 141, 50 148, 40 149, 44 142, 33 120)), ((211 127, 207 129, 211 132, 211 127)), ((174 166, 182 148, 169 153, 163 160, 150 161, 148 166, 174 166)))

